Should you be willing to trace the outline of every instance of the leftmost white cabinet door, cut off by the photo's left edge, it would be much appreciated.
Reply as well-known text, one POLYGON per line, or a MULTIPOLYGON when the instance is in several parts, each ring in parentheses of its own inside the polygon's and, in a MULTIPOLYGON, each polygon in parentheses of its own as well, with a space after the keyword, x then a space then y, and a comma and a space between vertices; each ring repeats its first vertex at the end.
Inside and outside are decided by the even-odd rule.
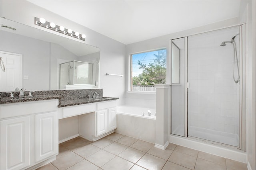
POLYGON ((1 123, 1 170, 20 170, 30 165, 30 117, 1 123))

